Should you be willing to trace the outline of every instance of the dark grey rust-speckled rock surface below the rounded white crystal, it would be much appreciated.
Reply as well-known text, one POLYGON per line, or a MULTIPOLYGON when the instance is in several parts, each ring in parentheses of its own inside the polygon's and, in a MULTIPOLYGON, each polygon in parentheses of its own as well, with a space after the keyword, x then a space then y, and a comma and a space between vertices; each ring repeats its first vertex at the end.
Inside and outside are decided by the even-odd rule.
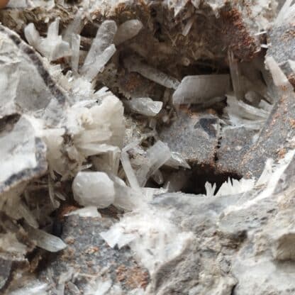
MULTIPOLYGON (((53 283, 58 288, 61 275, 73 269, 74 278, 69 278, 68 282, 74 283, 82 294, 86 292, 85 288, 91 279, 111 279, 112 284, 121 286, 123 294, 128 294, 133 289, 145 288, 149 282, 149 274, 138 265, 128 247, 112 249, 99 235, 112 223, 111 218, 106 217, 66 217, 62 224, 61 238, 68 247, 57 257, 50 258, 52 262, 48 263, 39 279, 52 284, 48 277, 48 273, 52 272, 53 283)), ((72 294, 67 287, 68 282, 65 282, 65 295, 72 294)))

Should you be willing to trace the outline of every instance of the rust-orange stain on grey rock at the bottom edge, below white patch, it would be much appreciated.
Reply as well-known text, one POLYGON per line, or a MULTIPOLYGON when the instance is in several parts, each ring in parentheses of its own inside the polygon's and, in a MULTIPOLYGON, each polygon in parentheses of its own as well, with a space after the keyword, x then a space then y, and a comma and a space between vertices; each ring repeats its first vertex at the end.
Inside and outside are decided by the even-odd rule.
POLYGON ((118 282, 126 284, 128 289, 145 289, 150 279, 148 272, 138 266, 126 268, 125 265, 121 265, 116 269, 116 276, 118 282))

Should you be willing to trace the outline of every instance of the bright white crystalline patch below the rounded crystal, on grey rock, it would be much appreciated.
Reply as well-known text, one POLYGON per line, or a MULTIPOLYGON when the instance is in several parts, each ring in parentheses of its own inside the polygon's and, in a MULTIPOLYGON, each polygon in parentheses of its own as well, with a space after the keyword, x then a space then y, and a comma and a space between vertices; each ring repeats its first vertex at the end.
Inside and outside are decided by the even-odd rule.
POLYGON ((177 257, 192 238, 169 221, 169 212, 150 207, 126 213, 100 235, 111 247, 129 245, 151 274, 158 265, 177 257))

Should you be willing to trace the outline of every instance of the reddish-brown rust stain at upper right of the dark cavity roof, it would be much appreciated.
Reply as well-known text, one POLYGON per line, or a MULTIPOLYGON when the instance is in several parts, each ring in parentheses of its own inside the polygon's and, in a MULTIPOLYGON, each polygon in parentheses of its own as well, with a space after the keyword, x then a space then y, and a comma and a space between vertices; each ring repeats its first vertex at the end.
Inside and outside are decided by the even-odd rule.
POLYGON ((249 60, 257 54, 257 44, 247 30, 238 9, 228 7, 221 11, 221 34, 228 49, 242 60, 249 60))

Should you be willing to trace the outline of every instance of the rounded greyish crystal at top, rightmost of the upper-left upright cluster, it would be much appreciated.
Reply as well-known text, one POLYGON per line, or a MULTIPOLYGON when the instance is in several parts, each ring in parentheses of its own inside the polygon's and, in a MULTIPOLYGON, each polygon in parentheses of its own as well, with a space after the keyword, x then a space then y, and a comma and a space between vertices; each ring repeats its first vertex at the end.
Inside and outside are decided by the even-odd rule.
POLYGON ((113 43, 119 45, 126 40, 135 37, 135 35, 137 35, 142 28, 143 23, 137 19, 131 19, 122 23, 121 26, 118 27, 115 38, 113 38, 113 43))

